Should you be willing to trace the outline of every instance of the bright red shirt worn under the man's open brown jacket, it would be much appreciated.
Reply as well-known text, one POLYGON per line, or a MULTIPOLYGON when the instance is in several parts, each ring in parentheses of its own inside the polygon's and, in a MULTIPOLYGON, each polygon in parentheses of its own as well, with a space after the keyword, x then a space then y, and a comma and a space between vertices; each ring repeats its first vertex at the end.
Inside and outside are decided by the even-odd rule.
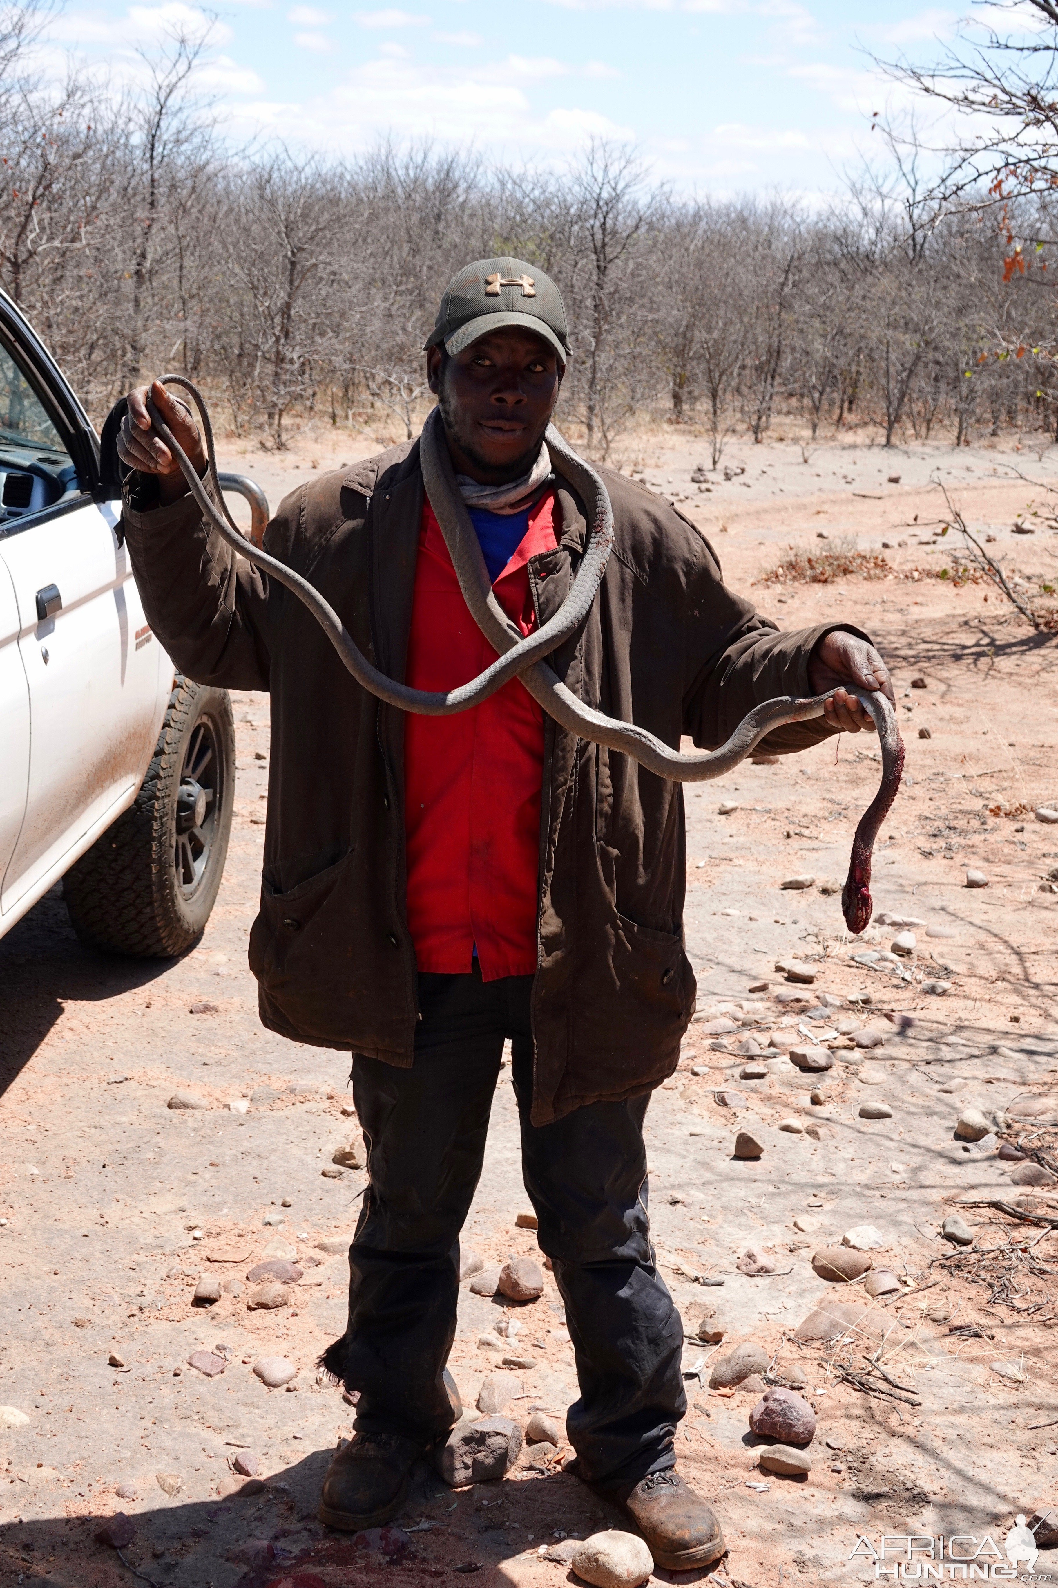
MULTIPOLYGON (((522 634, 536 627, 527 564, 557 545, 554 521, 549 492, 492 586, 522 634)), ((455 689, 495 657, 425 502, 406 681, 455 689)), ((544 713, 517 678, 455 716, 406 715, 408 926, 419 970, 466 973, 477 946, 485 981, 536 972, 542 770, 544 713)))

